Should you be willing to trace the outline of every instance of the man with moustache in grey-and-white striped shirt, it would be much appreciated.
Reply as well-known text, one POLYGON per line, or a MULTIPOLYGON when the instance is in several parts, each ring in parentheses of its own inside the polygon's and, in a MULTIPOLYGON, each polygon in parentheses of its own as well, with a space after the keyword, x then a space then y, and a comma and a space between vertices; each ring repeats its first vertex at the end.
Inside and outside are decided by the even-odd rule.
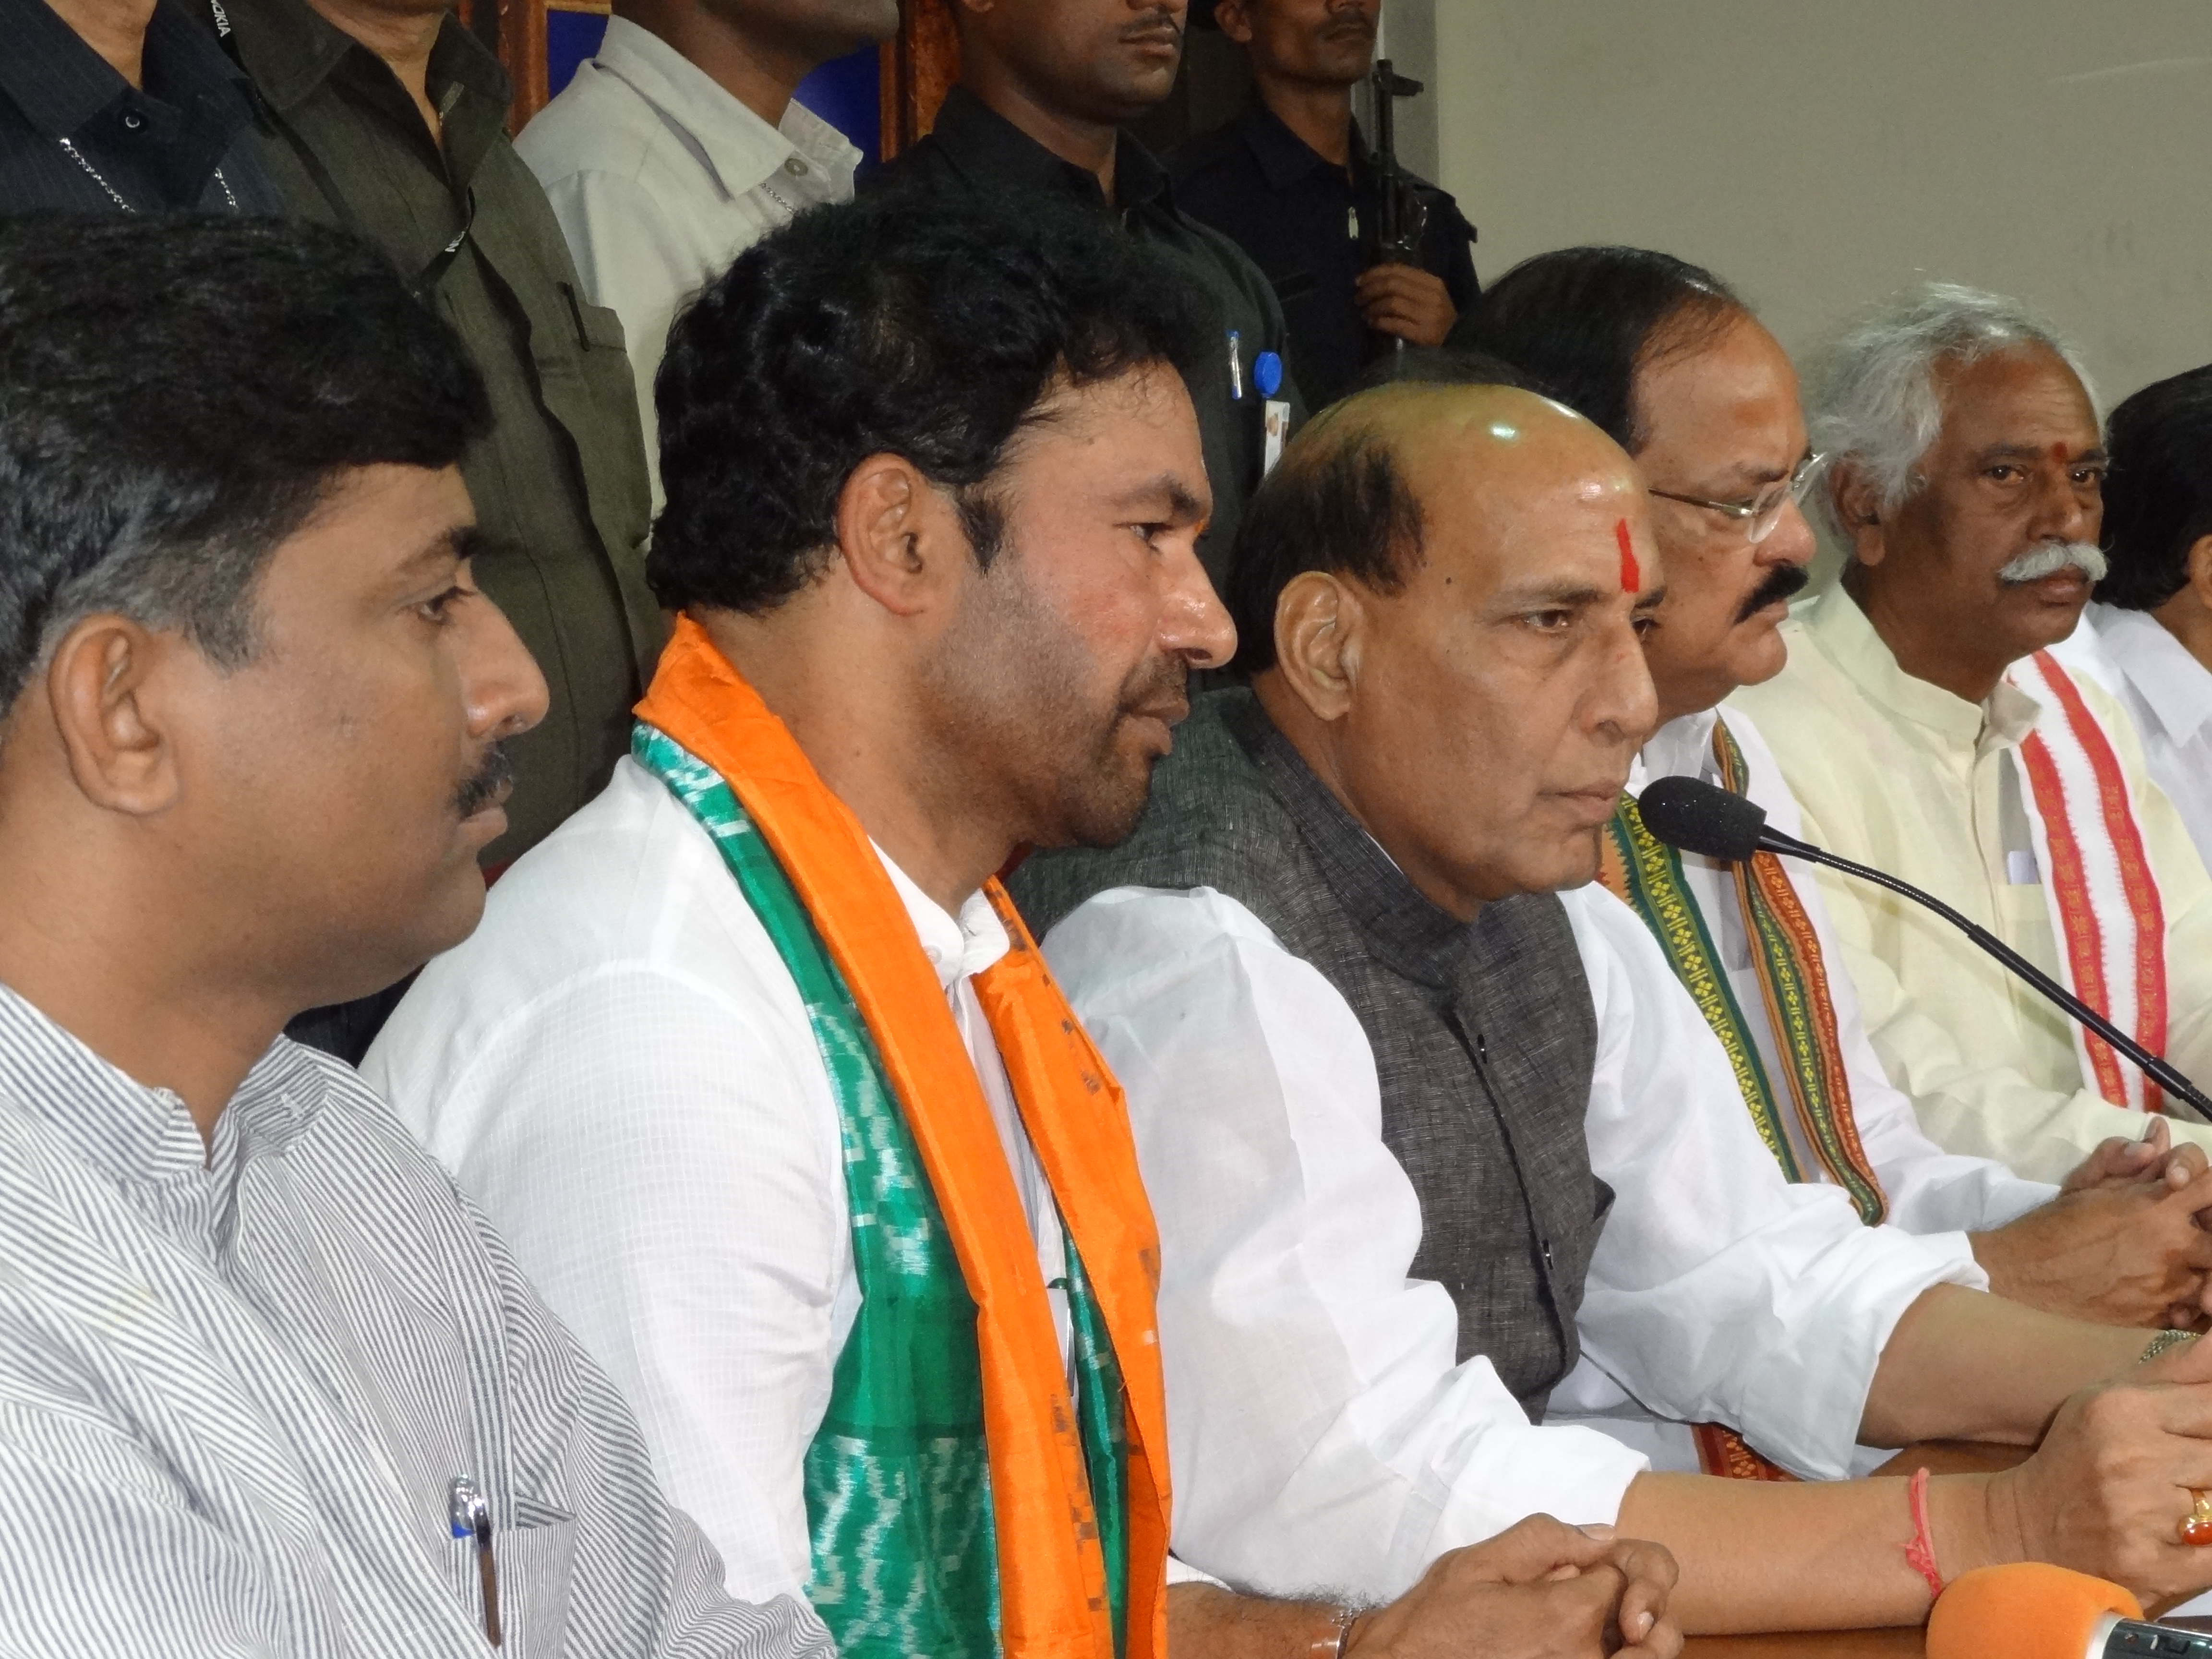
POLYGON ((827 1659, 279 1035, 473 927, 546 708, 460 343, 219 219, 0 226, 0 1650, 827 1659))

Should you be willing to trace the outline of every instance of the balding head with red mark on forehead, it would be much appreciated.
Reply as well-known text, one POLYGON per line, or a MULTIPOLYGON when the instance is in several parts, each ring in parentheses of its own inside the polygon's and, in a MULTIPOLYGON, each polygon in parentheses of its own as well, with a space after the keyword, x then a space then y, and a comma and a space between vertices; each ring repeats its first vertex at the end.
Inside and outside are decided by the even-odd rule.
POLYGON ((1659 577, 1644 482, 1588 420, 1506 387, 1396 385, 1298 436, 1232 591, 1248 628, 1267 604, 1252 666, 1274 723, 1471 918, 1597 872, 1657 723, 1639 633, 1659 577))

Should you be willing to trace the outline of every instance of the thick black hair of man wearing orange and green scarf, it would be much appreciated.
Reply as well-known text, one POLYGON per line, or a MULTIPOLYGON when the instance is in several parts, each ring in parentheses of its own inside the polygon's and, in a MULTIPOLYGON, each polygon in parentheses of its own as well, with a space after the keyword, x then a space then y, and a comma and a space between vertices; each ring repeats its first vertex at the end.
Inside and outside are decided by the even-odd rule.
POLYGON ((776 608, 827 566, 845 480, 880 453, 958 495, 989 564, 1013 436, 1057 385, 1197 369, 1201 292, 1097 210, 887 190, 803 212, 668 332, 655 595, 776 608))

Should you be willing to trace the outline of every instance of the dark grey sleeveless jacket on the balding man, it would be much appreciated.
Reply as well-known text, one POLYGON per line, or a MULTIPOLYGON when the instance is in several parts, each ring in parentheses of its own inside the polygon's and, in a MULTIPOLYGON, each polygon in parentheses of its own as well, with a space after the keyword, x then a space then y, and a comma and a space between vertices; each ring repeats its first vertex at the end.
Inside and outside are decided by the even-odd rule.
POLYGON ((1579 1354, 1575 1310, 1613 1192, 1584 1115, 1597 1018, 1557 898, 1431 905, 1243 688, 1201 697, 1110 852, 1029 858, 1013 896, 1042 936, 1113 887, 1212 887, 1352 1006, 1383 1084, 1383 1141, 1413 1181, 1413 1276, 1460 1314, 1533 1418, 1579 1354))

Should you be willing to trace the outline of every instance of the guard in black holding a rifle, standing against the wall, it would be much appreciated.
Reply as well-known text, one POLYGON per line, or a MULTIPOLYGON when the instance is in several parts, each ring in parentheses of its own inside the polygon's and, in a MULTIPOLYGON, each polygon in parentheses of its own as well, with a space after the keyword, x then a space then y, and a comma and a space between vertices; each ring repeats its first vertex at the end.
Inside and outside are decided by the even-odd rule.
POLYGON ((1383 0, 1212 0, 1194 18, 1245 49, 1252 102, 1168 155, 1183 210, 1243 248, 1274 283, 1298 383, 1321 407, 1394 338, 1442 345, 1473 307, 1475 232, 1458 204, 1407 175, 1416 259, 1380 246, 1383 175, 1352 119, 1374 69, 1383 0), (1210 13, 1210 15, 1206 15, 1210 13))

